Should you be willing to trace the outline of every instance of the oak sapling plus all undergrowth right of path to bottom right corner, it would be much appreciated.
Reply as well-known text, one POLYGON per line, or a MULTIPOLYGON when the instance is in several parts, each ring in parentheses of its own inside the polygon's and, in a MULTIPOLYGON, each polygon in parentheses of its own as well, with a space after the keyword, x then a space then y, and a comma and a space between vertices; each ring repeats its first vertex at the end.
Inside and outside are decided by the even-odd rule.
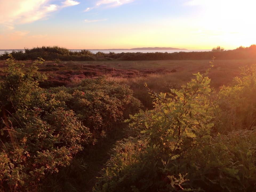
POLYGON ((138 133, 117 144, 94 191, 254 191, 255 129, 214 132, 218 105, 210 79, 155 95, 154 109, 131 116, 138 133))

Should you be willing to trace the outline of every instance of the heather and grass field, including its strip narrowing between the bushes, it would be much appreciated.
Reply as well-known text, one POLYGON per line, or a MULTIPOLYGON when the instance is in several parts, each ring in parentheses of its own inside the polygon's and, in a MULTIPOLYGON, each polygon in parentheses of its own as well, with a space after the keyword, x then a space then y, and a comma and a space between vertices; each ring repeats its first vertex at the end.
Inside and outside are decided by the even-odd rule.
MULTIPOLYGON (((32 61, 21 61, 29 66, 32 61)), ((134 91, 145 108, 152 107, 152 99, 145 87, 154 92, 168 92, 187 83, 193 73, 203 73, 210 67, 209 60, 170 60, 170 61, 45 61, 39 65, 39 71, 46 74, 48 80, 42 87, 73 86, 84 78, 105 75, 107 79, 127 84, 134 91)), ((5 66, 0 61, 0 66, 5 66)), ((218 90, 227 85, 241 73, 239 67, 251 66, 256 59, 215 60, 209 72, 210 85, 218 90)))

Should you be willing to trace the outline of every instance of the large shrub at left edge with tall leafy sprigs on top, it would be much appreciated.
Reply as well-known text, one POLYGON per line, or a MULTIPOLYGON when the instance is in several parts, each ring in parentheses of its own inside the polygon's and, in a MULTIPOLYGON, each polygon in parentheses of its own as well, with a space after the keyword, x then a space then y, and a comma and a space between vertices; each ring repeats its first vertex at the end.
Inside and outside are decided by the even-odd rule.
POLYGON ((41 62, 25 69, 10 57, 1 81, 0 178, 6 191, 35 189, 47 174, 69 165, 90 137, 73 111, 38 87, 41 62))

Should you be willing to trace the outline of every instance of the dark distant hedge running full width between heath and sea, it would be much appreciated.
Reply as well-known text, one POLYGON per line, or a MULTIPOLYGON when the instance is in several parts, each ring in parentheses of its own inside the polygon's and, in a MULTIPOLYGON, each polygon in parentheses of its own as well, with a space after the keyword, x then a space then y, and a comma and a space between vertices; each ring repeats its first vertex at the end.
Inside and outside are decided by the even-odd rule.
MULTIPOLYGON (((13 51, 12 55, 17 60, 34 60, 37 57, 42 57, 45 60, 61 60, 61 61, 92 61, 92 60, 210 60, 213 57, 216 59, 255 59, 256 45, 250 47, 239 47, 234 50, 222 51, 219 47, 214 48, 213 51, 201 52, 175 52, 175 53, 102 53, 93 54, 88 50, 69 51, 61 47, 37 47, 33 49, 25 49, 22 51, 13 51)), ((0 56, 0 59, 7 59, 8 53, 0 56)))

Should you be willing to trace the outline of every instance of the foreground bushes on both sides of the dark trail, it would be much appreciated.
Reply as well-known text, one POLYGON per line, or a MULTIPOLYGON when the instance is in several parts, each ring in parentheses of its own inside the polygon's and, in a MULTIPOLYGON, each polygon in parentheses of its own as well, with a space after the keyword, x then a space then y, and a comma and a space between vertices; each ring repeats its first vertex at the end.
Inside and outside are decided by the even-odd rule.
POLYGON ((77 180, 90 182, 79 175, 86 174, 84 148, 92 149, 128 114, 134 115, 126 121, 127 137, 116 143, 93 191, 256 190, 255 66, 218 93, 209 70, 181 89, 149 90, 154 107, 138 113, 141 104, 130 88, 103 77, 40 87, 42 61, 27 68, 10 57, 1 70, 1 192, 81 190, 77 180), (70 162, 78 172, 72 179, 63 169, 70 162), (56 187, 59 181, 69 182, 56 187))

